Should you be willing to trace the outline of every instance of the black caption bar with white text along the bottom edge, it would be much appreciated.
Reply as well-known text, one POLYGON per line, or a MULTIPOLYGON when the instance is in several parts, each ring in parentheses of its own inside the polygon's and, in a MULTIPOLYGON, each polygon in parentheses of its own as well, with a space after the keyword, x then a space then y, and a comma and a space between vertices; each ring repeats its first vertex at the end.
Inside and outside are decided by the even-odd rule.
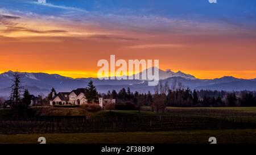
MULTIPOLYGON (((256 144, 0 144, 1 152, 19 154, 233 154, 254 152, 256 144), (138 147, 150 147, 138 151, 138 147), (133 147, 133 149, 131 149, 133 147), (137 151, 136 148, 137 147, 137 151), (105 148, 121 148, 119 152, 102 152, 105 148)), ((2 153, 1 153, 2 154, 2 153)))

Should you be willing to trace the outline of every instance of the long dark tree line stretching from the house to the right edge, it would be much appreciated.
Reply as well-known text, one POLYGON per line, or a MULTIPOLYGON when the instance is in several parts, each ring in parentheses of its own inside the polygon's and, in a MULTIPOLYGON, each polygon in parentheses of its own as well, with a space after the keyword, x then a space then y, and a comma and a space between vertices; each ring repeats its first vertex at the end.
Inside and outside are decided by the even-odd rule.
POLYGON ((154 111, 172 107, 248 107, 256 106, 255 91, 217 91, 191 90, 182 87, 175 90, 168 83, 161 83, 155 87, 155 92, 131 92, 130 88, 117 91, 112 90, 101 94, 104 98, 116 99, 115 108, 120 110, 140 110, 142 106, 151 106, 154 111))

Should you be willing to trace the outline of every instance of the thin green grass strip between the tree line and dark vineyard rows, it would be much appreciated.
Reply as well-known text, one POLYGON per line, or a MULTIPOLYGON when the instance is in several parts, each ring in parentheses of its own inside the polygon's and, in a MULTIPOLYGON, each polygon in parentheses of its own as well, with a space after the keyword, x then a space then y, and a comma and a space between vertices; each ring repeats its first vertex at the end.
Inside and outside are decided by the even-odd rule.
MULTIPOLYGON (((89 112, 84 108, 55 108, 55 107, 32 107, 35 110, 36 115, 47 115, 47 116, 108 116, 108 115, 174 115, 174 114, 212 114, 212 113, 223 113, 227 114, 233 112, 235 114, 256 114, 256 107, 195 107, 195 108, 181 108, 181 107, 167 107, 164 114, 156 114, 151 111, 151 107, 143 106, 141 112, 139 111, 121 111, 103 110, 99 112, 89 112)), ((0 109, 0 118, 8 113, 7 109, 0 109)))

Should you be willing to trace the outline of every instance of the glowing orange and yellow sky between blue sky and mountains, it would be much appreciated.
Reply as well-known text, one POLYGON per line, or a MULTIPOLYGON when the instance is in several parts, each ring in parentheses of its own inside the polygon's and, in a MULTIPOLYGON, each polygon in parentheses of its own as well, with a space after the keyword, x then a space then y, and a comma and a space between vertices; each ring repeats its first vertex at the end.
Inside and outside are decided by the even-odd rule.
POLYGON ((98 60, 115 55, 124 60, 156 59, 162 70, 181 70, 201 79, 256 78, 254 28, 186 20, 164 23, 159 18, 141 19, 144 25, 137 27, 46 16, 8 20, 15 27, 0 24, 1 73, 18 70, 96 77, 98 60), (147 25, 151 20, 156 21, 147 25), (162 25, 157 27, 154 22, 162 25))

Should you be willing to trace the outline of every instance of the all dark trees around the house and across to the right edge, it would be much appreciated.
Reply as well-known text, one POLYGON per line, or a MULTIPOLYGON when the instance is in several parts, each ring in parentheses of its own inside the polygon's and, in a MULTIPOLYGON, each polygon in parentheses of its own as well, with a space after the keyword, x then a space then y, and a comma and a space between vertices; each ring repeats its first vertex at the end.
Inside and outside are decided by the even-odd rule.
MULTIPOLYGON (((20 77, 14 74, 11 95, 8 100, 0 98, 3 107, 11 107, 14 111, 26 110, 31 105, 31 95, 28 90, 21 91, 20 77)), ((49 103, 52 93, 56 95, 55 89, 47 97, 38 96, 38 104, 49 103)), ((142 106, 151 106, 154 111, 164 110, 167 106, 172 107, 249 107, 256 106, 256 91, 217 91, 217 90, 191 90, 184 89, 182 83, 159 82, 154 88, 154 93, 132 92, 130 88, 108 91, 108 93, 98 94, 93 82, 86 87, 86 98, 90 102, 98 102, 98 97, 105 99, 115 99, 115 107, 118 110, 141 110, 142 106)), ((112 107, 113 108, 113 107, 112 107)))

